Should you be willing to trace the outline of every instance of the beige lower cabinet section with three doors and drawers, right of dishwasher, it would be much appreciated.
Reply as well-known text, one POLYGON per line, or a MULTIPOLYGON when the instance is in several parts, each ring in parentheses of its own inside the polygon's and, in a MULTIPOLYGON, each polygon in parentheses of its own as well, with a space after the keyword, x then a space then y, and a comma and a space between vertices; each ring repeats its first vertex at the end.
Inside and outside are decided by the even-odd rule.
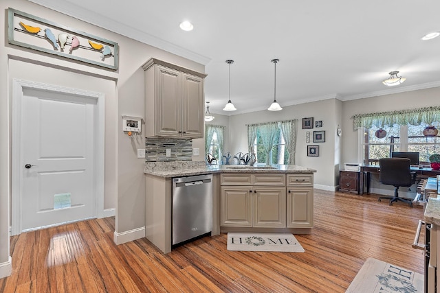
POLYGON ((220 182, 221 226, 313 226, 313 174, 287 174, 287 185, 285 174, 221 174, 220 182))

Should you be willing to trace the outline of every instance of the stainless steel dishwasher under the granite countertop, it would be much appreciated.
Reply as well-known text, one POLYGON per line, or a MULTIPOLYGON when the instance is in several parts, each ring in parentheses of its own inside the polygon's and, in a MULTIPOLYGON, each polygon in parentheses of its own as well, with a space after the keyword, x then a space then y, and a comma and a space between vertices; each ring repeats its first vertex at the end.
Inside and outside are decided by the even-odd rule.
POLYGON ((212 231, 212 174, 173 178, 172 245, 212 231))

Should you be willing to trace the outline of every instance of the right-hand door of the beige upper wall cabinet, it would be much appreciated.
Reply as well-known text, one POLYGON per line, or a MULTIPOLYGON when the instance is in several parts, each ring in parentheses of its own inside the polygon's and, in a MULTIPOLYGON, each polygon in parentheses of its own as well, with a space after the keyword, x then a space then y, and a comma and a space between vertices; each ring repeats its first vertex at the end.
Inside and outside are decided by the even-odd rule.
POLYGON ((203 78, 182 73, 182 135, 203 137, 203 78))

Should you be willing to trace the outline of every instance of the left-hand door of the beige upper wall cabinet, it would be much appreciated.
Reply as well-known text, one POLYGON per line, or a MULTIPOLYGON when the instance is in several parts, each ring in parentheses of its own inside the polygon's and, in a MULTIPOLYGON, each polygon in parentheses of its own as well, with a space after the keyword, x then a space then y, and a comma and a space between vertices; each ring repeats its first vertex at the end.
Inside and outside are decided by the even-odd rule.
POLYGON ((181 137, 181 73, 157 65, 155 82, 155 133, 181 137))

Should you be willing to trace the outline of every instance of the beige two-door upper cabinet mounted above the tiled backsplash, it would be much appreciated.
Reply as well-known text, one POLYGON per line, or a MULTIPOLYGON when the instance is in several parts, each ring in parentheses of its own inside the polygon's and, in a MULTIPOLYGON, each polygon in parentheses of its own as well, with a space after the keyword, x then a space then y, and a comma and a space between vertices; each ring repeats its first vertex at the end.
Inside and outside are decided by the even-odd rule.
POLYGON ((151 58, 145 70, 145 136, 203 137, 206 74, 151 58))

